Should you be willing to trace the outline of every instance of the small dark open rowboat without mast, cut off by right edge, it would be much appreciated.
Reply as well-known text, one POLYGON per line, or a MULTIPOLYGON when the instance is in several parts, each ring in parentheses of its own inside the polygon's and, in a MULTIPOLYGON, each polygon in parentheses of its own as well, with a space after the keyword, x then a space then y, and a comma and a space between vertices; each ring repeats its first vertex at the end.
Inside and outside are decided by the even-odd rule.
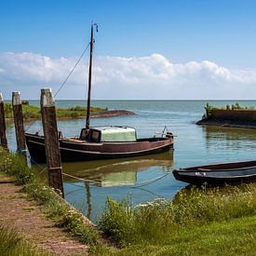
POLYGON ((195 185, 241 184, 256 182, 256 161, 180 168, 173 170, 176 180, 195 185))

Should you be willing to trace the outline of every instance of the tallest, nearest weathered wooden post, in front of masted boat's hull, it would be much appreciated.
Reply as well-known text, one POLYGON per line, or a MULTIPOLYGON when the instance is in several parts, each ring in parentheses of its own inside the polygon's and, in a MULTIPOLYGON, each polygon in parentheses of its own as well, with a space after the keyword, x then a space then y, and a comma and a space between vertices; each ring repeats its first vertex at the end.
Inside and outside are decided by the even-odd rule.
POLYGON ((64 197, 56 109, 51 88, 41 89, 41 112, 45 135, 49 186, 53 187, 57 193, 64 197))

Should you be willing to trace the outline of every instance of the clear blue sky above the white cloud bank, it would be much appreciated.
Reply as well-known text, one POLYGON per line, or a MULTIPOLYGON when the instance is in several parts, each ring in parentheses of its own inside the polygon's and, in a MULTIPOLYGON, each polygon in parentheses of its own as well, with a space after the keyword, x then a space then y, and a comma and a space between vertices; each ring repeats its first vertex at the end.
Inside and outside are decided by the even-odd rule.
MULTIPOLYGON (((255 13, 256 1, 253 0, 1 0, 0 53, 30 52, 52 59, 78 56, 88 43, 90 21, 95 20, 100 30, 96 35, 96 56, 142 58, 158 54, 170 64, 178 65, 210 61, 228 69, 232 75, 234 70, 239 75, 249 72, 245 76, 252 76, 253 79, 247 81, 251 87, 256 67, 255 13)), ((3 62, 7 62, 6 56, 2 57, 3 62)), ((5 82, 10 67, 13 66, 2 66, 5 75, 0 81, 5 82)), ((10 83, 10 79, 7 82, 10 83)), ((58 85, 57 80, 50 78, 39 82, 58 85)), ((96 96, 102 97, 97 93, 96 96)), ((120 98, 118 94, 115 97, 120 98)), ((212 97, 219 98, 215 94, 212 97)), ((210 95, 206 94, 206 98, 210 95)))

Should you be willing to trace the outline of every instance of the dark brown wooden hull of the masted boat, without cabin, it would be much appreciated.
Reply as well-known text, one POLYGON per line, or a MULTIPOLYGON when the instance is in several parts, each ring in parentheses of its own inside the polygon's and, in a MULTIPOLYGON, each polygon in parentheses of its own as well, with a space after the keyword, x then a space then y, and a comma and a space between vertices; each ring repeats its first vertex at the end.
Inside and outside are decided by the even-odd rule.
MULTIPOLYGON (((36 163, 46 162, 45 139, 42 136, 26 133, 26 143, 31 158, 36 163)), ((150 138, 134 142, 87 142, 60 140, 61 161, 88 161, 151 155, 167 152, 173 148, 172 139, 150 138)))

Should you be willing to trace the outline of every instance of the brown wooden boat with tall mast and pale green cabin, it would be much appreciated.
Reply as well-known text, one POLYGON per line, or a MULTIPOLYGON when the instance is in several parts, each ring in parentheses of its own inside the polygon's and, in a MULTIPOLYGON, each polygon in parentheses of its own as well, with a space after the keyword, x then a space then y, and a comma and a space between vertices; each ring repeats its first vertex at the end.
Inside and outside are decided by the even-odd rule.
MULTIPOLYGON (((138 139, 135 128, 89 127, 94 25, 91 24, 86 128, 82 128, 78 138, 64 138, 60 135, 61 161, 74 162, 150 155, 173 149, 173 134, 165 132, 166 127, 161 136, 146 139, 138 139)), ((46 162, 44 136, 40 136, 38 133, 26 133, 25 137, 32 160, 37 163, 46 162)))

